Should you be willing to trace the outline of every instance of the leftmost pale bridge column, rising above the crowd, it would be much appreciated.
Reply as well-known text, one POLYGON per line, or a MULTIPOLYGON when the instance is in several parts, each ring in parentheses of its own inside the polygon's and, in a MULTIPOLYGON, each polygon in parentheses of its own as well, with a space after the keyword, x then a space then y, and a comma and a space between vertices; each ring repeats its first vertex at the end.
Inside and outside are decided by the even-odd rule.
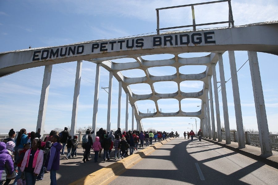
POLYGON ((44 123, 45 123, 51 72, 52 72, 52 65, 44 66, 44 79, 41 87, 40 106, 39 106, 39 113, 38 113, 38 120, 37 120, 37 127, 36 127, 36 131, 40 129, 41 138, 44 135, 44 123))

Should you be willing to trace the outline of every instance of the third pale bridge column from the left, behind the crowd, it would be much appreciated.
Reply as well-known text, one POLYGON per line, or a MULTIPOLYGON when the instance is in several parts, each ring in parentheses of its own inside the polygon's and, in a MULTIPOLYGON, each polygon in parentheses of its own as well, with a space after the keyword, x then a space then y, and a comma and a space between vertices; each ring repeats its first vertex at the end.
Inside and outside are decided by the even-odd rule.
POLYGON ((97 124, 97 115, 98 115, 98 105, 99 105, 99 77, 100 77, 100 63, 96 64, 95 70, 95 97, 94 97, 94 108, 93 108, 93 130, 95 131, 92 134, 93 139, 95 140, 96 134, 96 124, 97 124))

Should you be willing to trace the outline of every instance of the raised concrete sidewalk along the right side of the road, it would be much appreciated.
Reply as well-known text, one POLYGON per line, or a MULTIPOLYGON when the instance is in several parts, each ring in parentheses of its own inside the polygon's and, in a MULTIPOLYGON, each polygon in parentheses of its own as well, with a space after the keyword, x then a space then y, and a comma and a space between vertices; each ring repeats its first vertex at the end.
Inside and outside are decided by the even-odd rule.
POLYGON ((273 154, 272 156, 266 156, 266 155, 261 155, 261 148, 258 146, 245 145, 245 148, 239 149, 237 142, 231 142, 231 144, 227 145, 225 140, 222 140, 222 142, 217 142, 217 141, 213 141, 212 139, 206 139, 206 138, 202 138, 202 140, 206 140, 206 141, 212 142, 214 144, 226 147, 230 150, 238 152, 247 157, 253 158, 257 161, 264 162, 267 165, 278 169, 278 151, 277 150, 272 150, 272 154, 273 154))

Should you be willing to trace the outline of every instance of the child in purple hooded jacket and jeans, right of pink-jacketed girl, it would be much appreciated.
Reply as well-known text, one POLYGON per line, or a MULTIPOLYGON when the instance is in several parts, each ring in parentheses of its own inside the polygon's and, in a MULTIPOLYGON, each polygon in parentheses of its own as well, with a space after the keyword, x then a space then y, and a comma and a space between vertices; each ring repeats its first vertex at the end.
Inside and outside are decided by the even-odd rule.
POLYGON ((50 171, 50 185, 57 185, 56 171, 60 167, 60 150, 62 145, 60 144, 60 137, 57 135, 52 136, 50 142, 53 145, 48 153, 48 158, 45 162, 46 171, 50 171))

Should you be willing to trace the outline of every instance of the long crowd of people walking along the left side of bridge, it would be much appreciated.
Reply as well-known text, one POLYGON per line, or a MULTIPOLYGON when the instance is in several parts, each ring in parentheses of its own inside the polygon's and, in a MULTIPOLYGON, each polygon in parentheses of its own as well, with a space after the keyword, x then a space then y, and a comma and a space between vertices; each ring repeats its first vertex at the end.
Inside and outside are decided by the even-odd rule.
MULTIPOLYGON (((100 128, 95 133, 87 129, 82 137, 83 162, 89 161, 91 149, 94 152, 94 162, 101 158, 103 150, 103 162, 114 158, 123 159, 132 155, 135 150, 143 149, 170 137, 179 137, 173 131, 106 131, 100 128), (112 155, 112 150, 114 154, 112 155), (128 154, 129 150, 129 154, 128 154)), ((68 128, 57 134, 52 130, 50 134, 41 140, 40 129, 27 134, 26 129, 21 129, 17 134, 13 129, 9 137, 0 142, 0 185, 8 185, 14 179, 13 185, 26 180, 26 184, 35 184, 44 179, 44 173, 50 173, 51 185, 57 184, 56 171, 59 170, 60 157, 66 160, 77 157, 78 136, 71 136, 68 128), (65 147, 67 153, 65 154, 65 147)))

